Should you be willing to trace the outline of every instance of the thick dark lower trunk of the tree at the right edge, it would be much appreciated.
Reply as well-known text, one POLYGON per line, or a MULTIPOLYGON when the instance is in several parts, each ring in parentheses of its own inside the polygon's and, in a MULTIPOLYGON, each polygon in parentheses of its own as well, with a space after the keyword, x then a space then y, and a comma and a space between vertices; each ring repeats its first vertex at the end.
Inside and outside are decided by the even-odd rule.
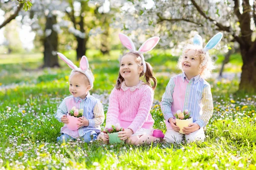
POLYGON ((256 49, 248 52, 247 48, 240 47, 243 59, 239 91, 247 94, 256 94, 256 49))

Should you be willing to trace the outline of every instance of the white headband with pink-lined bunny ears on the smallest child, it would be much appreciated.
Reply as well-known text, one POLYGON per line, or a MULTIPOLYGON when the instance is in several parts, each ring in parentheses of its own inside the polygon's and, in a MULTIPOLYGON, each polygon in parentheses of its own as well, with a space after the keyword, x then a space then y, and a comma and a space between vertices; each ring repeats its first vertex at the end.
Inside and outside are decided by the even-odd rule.
POLYGON ((57 53, 58 56, 64 61, 67 63, 67 65, 72 68, 73 70, 71 71, 74 72, 74 71, 79 71, 81 72, 82 74, 85 74, 85 76, 89 79, 89 82, 90 82, 90 86, 91 88, 93 88, 93 78, 90 76, 90 74, 88 73, 88 68, 89 68, 89 63, 88 63, 88 60, 87 60, 87 57, 83 56, 80 60, 80 67, 78 68, 76 65, 74 65, 74 63, 72 61, 70 61, 69 59, 67 59, 67 57, 65 57, 63 54, 61 53, 57 53))

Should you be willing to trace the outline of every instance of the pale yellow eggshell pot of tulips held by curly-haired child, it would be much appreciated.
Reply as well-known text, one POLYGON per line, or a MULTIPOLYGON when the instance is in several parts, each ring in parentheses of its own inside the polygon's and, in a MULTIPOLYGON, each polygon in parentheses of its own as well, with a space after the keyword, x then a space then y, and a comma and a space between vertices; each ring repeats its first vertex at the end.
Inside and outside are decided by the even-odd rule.
POLYGON ((175 114, 176 117, 176 125, 180 127, 180 133, 184 134, 182 129, 183 127, 188 127, 189 124, 193 123, 193 118, 190 116, 188 110, 181 112, 180 110, 177 111, 175 114))

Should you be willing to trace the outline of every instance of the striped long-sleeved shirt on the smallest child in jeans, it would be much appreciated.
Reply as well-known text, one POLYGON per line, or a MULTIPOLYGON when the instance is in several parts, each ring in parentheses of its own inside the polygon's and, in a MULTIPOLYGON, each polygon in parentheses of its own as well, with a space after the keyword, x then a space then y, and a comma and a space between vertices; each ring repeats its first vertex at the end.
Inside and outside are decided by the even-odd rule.
POLYGON ((81 99, 80 97, 68 96, 59 105, 57 112, 54 115, 55 118, 59 122, 61 122, 61 117, 64 114, 67 115, 67 113, 71 110, 73 106, 76 106, 76 108, 79 109, 84 109, 83 116, 88 119, 89 125, 83 126, 78 130, 73 131, 69 130, 65 124, 64 127, 61 127, 61 133, 65 133, 76 138, 79 136, 84 136, 85 133, 88 133, 91 130, 94 130, 96 132, 101 131, 100 125, 104 122, 105 114, 99 99, 91 96, 89 92, 85 99, 81 99))

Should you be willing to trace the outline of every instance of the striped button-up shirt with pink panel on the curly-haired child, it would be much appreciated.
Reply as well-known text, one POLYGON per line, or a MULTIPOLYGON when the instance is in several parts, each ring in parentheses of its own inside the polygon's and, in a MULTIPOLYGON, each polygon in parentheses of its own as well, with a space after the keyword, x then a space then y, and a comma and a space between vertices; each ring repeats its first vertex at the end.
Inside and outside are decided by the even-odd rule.
POLYGON ((193 122, 205 127, 213 113, 211 86, 197 75, 188 80, 185 73, 172 77, 161 101, 161 110, 167 129, 172 129, 169 118, 175 118, 177 110, 189 110, 193 122))

